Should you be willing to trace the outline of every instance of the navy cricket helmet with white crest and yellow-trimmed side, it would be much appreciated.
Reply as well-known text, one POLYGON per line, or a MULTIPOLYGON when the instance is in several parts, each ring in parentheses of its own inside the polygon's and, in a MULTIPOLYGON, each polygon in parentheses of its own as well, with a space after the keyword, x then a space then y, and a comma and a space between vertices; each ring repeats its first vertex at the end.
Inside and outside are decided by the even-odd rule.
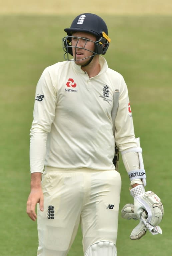
MULTIPOLYGON (((92 13, 83 13, 78 15, 73 20, 70 28, 65 28, 64 31, 67 33, 67 36, 63 38, 63 49, 67 55, 70 54, 73 56, 71 46, 73 32, 81 31, 91 33, 96 36, 93 56, 97 54, 104 55, 111 41, 108 37, 108 29, 104 20, 98 15, 92 13)), ((67 58, 67 60, 69 60, 69 58, 67 58)))

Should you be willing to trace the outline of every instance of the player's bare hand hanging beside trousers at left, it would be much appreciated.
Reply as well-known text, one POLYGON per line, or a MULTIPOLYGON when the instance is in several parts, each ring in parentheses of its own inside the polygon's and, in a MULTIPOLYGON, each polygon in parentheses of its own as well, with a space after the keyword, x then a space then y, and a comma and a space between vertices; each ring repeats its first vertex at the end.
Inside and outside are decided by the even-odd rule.
POLYGON ((35 221, 37 219, 37 215, 35 212, 35 207, 39 203, 40 210, 44 210, 44 197, 42 193, 42 188, 32 188, 27 200, 27 208, 26 212, 28 216, 35 221))

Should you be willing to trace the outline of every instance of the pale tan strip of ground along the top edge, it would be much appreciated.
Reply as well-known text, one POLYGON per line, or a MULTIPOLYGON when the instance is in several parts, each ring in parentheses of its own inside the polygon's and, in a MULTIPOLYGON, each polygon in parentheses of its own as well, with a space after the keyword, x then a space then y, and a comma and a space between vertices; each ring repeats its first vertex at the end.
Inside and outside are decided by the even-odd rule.
POLYGON ((0 0, 0 13, 13 14, 79 14, 83 12, 92 12, 96 14, 172 14, 171 0, 0 0))

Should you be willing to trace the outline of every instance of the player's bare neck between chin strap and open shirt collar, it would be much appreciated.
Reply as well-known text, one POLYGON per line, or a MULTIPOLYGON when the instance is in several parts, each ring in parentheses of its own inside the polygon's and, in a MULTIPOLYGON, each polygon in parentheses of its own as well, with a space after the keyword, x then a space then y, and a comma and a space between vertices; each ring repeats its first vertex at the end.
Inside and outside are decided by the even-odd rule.
POLYGON ((94 56, 93 60, 87 66, 81 67, 81 69, 87 72, 89 78, 98 75, 100 72, 99 55, 94 56))

